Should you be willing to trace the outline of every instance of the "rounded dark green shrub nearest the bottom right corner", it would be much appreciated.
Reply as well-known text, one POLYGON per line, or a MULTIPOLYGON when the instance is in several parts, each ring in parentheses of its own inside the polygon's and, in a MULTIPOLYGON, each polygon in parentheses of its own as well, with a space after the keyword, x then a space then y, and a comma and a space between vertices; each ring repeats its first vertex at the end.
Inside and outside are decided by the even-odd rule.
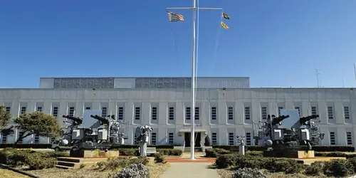
POLYGON ((345 159, 333 159, 325 162, 324 174, 333 177, 345 177, 353 173, 353 167, 345 159))

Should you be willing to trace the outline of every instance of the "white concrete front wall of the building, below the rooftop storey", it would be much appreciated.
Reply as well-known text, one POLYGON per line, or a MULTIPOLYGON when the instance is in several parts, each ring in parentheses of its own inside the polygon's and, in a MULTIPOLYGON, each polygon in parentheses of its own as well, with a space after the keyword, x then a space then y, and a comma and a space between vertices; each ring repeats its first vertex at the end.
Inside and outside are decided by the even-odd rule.
MULTIPOLYGON (((316 107, 322 120, 321 129, 325 132, 322 145, 330 145, 330 132, 335 132, 336 145, 346 145, 346 132, 352 132, 352 145, 355 146, 356 107, 355 90, 350 88, 239 88, 239 89, 199 89, 197 90, 197 107, 200 119, 196 120, 201 130, 217 132, 219 145, 228 144, 229 132, 244 135, 252 132, 253 122, 261 120, 261 107, 267 107, 268 114, 278 115, 278 107, 293 109, 300 107, 300 115, 311 114, 311 107, 316 107), (211 120, 211 107, 216 107, 216 120, 211 120), (333 107, 333 120, 328 119, 328 106, 333 107), (348 106, 350 119, 345 120, 343 107, 348 106), (228 107, 234 108, 234 119, 228 120, 228 107), (250 107, 251 120, 245 119, 245 107, 250 107)), ((58 107, 58 120, 66 115, 70 107, 75 108, 75 116, 82 117, 85 107, 100 110, 108 107, 117 115, 118 108, 124 107, 124 121, 129 122, 129 139, 133 141, 135 127, 150 124, 157 132, 157 144, 168 142, 168 132, 174 132, 174 143, 182 143, 184 135, 178 136, 179 130, 189 129, 183 125, 185 109, 190 107, 191 93, 189 89, 0 89, 0 105, 11 107, 11 115, 18 116, 22 107, 26 112, 35 111, 38 106, 43 112, 53 113, 58 107), (157 107, 157 120, 152 120, 152 107, 157 107), (140 107, 140 120, 135 120, 134 108, 140 107), (169 107, 174 107, 174 120, 169 120, 169 107)), ((252 135, 253 137, 253 135, 252 135)), ((8 137, 7 142, 14 142, 16 135, 8 137)), ((48 142, 41 138, 40 142, 48 142)), ((33 137, 23 142, 33 142, 33 137)), ((253 141, 252 141, 253 142, 253 141)))

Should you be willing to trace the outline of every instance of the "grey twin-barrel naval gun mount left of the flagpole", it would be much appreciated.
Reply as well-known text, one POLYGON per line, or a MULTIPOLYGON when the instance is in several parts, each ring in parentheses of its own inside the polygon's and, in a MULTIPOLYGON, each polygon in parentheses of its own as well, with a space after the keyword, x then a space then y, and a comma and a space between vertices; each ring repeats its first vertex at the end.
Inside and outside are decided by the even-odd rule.
POLYGON ((70 142, 73 150, 108 150, 123 145, 128 124, 116 120, 115 115, 100 115, 100 110, 85 110, 83 119, 63 115, 66 118, 63 142, 66 145, 70 142))

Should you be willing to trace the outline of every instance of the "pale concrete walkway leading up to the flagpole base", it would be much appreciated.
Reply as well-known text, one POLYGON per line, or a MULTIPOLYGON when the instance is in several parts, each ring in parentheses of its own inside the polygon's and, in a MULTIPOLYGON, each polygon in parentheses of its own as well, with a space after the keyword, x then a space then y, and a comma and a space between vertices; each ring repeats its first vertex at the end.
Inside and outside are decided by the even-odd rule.
POLYGON ((216 169, 209 169, 209 162, 172 162, 171 167, 167 169, 159 178, 219 178, 216 169))

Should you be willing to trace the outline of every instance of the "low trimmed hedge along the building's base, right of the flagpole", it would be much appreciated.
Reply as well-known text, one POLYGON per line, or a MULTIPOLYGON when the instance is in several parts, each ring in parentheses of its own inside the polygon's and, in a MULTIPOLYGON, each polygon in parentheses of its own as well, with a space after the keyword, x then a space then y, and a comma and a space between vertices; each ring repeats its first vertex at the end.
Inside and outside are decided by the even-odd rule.
MULTIPOLYGON (((237 145, 212 145, 213 148, 222 148, 224 150, 239 150, 237 145)), ((263 151, 263 147, 255 145, 246 145, 248 151, 263 151)), ((355 147, 352 146, 313 146, 315 152, 355 152, 355 147)))

